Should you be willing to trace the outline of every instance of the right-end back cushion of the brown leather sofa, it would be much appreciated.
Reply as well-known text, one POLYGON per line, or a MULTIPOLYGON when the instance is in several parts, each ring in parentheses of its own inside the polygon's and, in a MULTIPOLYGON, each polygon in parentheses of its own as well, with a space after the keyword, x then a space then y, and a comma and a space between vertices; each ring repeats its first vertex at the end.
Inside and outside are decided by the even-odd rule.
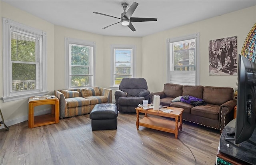
POLYGON ((226 101, 232 100, 234 89, 231 87, 210 87, 205 86, 203 99, 206 103, 222 105, 226 101))

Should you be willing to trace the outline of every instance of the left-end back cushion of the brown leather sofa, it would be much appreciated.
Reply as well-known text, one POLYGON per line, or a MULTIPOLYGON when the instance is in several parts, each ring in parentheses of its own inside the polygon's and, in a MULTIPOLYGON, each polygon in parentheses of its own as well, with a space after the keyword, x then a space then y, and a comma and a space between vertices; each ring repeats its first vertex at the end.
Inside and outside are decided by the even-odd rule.
POLYGON ((164 94, 166 97, 178 97, 182 95, 183 85, 166 83, 164 84, 164 94))

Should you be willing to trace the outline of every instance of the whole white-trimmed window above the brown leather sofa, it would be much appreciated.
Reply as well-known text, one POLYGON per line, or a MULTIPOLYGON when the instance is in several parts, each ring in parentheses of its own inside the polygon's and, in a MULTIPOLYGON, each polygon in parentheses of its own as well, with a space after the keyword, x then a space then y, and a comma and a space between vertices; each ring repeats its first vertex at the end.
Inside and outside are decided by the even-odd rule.
POLYGON ((167 40, 168 83, 199 85, 199 33, 167 40))

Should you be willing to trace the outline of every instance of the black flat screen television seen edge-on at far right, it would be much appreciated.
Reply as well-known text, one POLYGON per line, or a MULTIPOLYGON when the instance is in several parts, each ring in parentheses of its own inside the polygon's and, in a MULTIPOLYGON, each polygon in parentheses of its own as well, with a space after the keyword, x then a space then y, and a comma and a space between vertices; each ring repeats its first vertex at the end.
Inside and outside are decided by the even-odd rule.
MULTIPOLYGON (((256 64, 239 55, 235 144, 248 141, 256 127, 256 64)), ((252 141, 249 141, 252 142, 252 141)), ((254 145, 255 143, 252 142, 254 145)))

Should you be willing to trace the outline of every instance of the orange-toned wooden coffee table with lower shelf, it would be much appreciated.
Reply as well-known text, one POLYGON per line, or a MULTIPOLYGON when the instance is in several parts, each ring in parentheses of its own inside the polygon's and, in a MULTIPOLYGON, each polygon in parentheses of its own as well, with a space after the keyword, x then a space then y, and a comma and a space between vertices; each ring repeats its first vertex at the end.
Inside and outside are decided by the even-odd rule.
POLYGON ((173 109, 174 110, 170 113, 156 111, 153 109, 145 110, 141 107, 137 107, 135 109, 136 109, 136 113, 137 113, 137 121, 136 121, 137 129, 139 129, 139 125, 140 125, 143 127, 148 127, 148 128, 157 129, 160 131, 174 133, 175 139, 178 138, 178 131, 182 129, 182 112, 183 112, 182 108, 175 108, 175 107, 164 108, 164 109, 173 109), (144 116, 144 118, 139 120, 140 113, 145 113, 145 116, 144 116), (160 119, 157 117, 149 117, 148 114, 174 118, 175 121, 171 121, 171 120, 167 120, 167 119, 160 119))

